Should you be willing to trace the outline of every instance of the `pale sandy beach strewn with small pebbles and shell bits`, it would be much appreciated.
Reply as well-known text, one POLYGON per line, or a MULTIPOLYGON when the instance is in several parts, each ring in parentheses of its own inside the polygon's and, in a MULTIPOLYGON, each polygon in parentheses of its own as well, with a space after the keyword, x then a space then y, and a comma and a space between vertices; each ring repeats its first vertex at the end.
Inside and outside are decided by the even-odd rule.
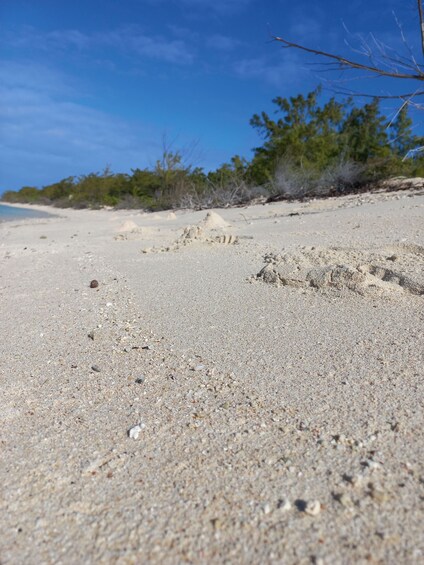
POLYGON ((41 209, 0 224, 3 565, 423 562, 423 191, 41 209))

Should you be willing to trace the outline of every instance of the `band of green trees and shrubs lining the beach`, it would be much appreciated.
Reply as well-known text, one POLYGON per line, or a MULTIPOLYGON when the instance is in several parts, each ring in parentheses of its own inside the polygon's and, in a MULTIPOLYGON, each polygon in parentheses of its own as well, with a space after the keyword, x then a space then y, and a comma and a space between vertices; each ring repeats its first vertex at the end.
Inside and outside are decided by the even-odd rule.
POLYGON ((205 172, 179 151, 165 148, 151 169, 131 174, 68 177, 37 189, 25 186, 3 194, 5 202, 59 207, 144 208, 237 205, 259 196, 302 198, 345 194, 399 175, 424 176, 424 138, 413 134, 407 106, 389 123, 378 99, 357 106, 351 98, 318 103, 308 95, 275 98, 275 113, 255 114, 250 124, 263 144, 249 161, 238 155, 205 172), (408 158, 405 158, 408 156, 408 158))

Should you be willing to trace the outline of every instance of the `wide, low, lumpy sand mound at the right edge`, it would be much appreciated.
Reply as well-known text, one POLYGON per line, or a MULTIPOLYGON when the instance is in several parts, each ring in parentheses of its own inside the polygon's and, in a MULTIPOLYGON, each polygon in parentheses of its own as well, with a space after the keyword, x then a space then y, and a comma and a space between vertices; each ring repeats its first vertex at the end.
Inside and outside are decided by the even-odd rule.
POLYGON ((277 286, 350 290, 361 295, 408 292, 424 295, 423 248, 397 245, 380 251, 303 248, 269 254, 256 279, 277 286), (396 248, 397 254, 388 256, 396 248), (394 269, 393 264, 398 268, 394 269), (417 268, 421 264, 421 269, 417 268))

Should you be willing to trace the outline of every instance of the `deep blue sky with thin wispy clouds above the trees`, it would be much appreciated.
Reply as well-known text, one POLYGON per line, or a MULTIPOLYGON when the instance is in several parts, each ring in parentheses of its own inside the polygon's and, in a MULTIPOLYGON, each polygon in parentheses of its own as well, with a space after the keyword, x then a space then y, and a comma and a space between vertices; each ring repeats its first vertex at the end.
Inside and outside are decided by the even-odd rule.
POLYGON ((320 73, 270 40, 352 56, 355 34, 374 32, 405 52, 393 10, 420 57, 415 0, 1 0, 0 192, 106 165, 149 167, 164 137, 174 149, 195 146, 206 170, 250 158, 261 143, 251 116, 320 81, 324 97, 338 88, 328 79, 408 90, 320 73))

